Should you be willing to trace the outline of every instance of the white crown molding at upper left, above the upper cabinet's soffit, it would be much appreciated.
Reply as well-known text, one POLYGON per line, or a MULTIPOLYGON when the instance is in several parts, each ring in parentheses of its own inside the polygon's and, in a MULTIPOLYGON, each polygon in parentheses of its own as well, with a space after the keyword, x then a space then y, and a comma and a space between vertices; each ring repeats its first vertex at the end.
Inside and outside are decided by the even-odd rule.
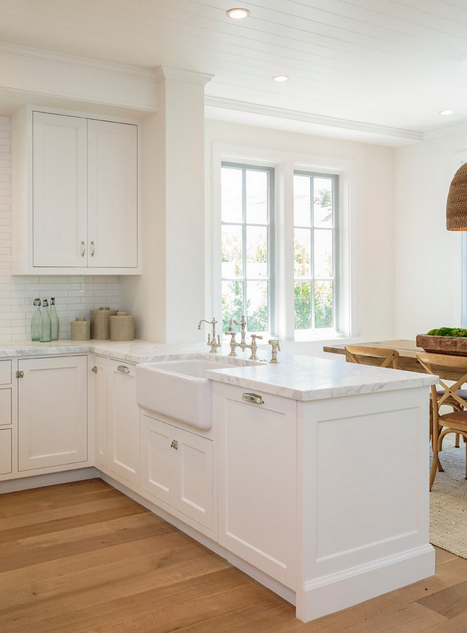
POLYGON ((79 67, 84 70, 96 72, 106 72, 132 79, 144 79, 146 81, 156 81, 156 71, 153 68, 140 68, 127 66, 125 64, 115 64, 113 62, 102 62, 98 59, 88 59, 87 57, 77 57, 75 55, 65 55, 49 50, 39 50, 13 44, 0 43, 0 55, 28 59, 35 62, 49 62, 62 66, 79 67))

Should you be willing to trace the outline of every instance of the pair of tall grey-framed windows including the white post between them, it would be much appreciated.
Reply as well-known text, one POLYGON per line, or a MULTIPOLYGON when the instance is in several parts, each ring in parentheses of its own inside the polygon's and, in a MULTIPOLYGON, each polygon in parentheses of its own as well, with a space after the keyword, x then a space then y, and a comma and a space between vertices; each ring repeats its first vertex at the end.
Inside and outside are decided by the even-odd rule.
POLYGON ((220 259, 221 266, 216 263, 213 274, 223 331, 244 314, 248 333, 282 341, 350 336, 352 165, 321 169, 313 161, 307 169, 290 154, 277 161, 271 152, 265 164, 228 153, 221 161, 221 154, 221 239, 214 242, 214 262, 220 259))

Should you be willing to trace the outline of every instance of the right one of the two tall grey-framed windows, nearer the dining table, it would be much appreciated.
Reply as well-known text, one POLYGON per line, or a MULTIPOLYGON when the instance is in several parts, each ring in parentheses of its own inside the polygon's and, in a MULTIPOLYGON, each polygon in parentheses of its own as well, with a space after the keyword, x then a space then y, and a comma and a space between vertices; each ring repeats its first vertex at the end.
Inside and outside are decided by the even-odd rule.
POLYGON ((294 329, 336 328, 338 176, 294 172, 294 329))

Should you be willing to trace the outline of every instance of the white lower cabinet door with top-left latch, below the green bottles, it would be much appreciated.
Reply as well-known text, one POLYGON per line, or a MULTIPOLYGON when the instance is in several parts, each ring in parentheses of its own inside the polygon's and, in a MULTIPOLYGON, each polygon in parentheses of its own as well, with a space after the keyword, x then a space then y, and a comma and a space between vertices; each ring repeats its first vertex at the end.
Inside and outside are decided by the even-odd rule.
POLYGON ((86 356, 18 361, 19 470, 86 462, 86 356))

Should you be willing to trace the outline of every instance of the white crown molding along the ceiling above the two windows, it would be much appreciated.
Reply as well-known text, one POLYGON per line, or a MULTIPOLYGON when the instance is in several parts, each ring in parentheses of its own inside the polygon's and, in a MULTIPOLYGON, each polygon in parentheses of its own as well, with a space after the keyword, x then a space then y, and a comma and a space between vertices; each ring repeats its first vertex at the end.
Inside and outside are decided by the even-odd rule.
POLYGON ((235 99, 226 99, 222 97, 206 96, 204 98, 204 105, 211 106, 213 108, 224 108, 226 110, 236 110, 238 112, 248 112, 258 115, 267 115, 282 119, 313 123, 316 125, 327 125, 328 127, 354 130, 357 132, 367 132, 370 134, 407 139, 410 141, 422 141, 424 138, 422 132, 415 132, 414 130, 403 130, 398 127, 388 127, 386 125, 376 125, 374 123, 364 123, 349 119, 327 117, 302 112, 300 110, 276 108, 274 105, 260 105, 259 103, 248 103, 246 101, 236 101, 235 99))

